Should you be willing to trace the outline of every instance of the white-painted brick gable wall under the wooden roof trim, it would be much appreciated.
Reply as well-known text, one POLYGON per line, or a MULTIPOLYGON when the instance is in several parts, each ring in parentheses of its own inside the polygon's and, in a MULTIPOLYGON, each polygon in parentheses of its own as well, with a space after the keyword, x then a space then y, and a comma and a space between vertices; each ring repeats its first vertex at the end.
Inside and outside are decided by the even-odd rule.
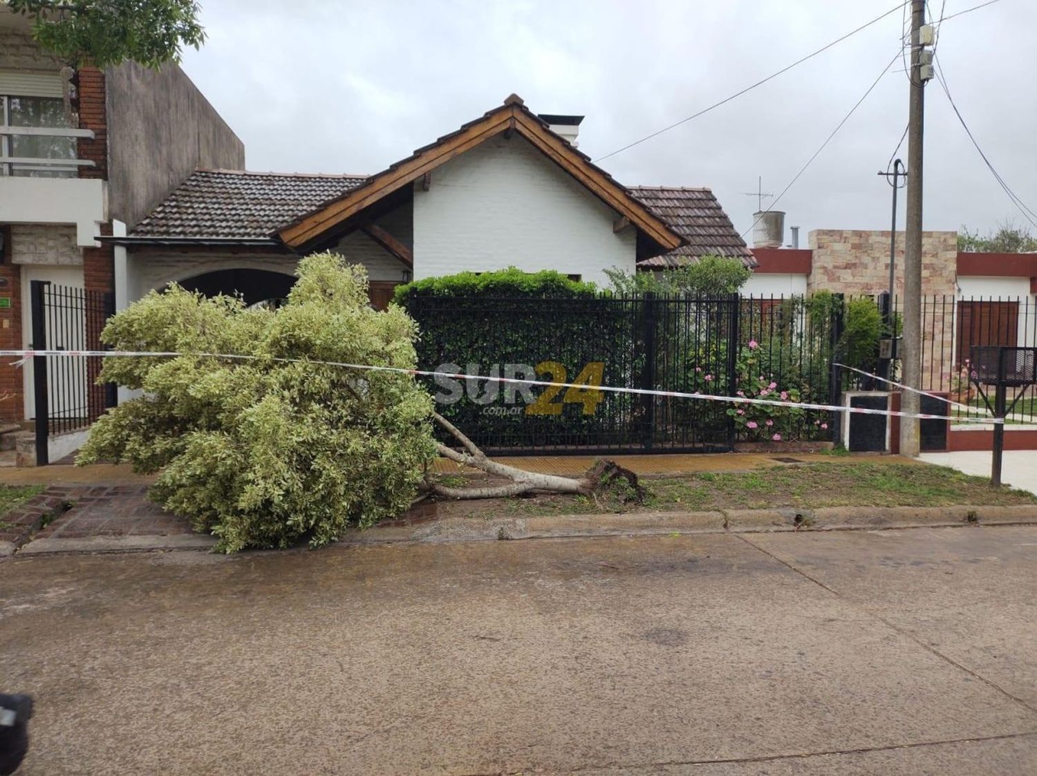
POLYGON ((414 186, 414 277, 516 266, 608 286, 605 269, 636 267, 636 232, 518 135, 454 157, 414 186))

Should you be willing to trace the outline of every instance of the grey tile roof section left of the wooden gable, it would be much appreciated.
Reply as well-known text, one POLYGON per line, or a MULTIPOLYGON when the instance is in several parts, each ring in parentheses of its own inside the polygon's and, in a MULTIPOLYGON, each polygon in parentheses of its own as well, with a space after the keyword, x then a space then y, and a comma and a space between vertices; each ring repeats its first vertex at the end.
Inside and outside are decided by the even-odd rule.
POLYGON ((129 236, 269 238, 279 227, 366 179, 363 175, 196 170, 129 236))

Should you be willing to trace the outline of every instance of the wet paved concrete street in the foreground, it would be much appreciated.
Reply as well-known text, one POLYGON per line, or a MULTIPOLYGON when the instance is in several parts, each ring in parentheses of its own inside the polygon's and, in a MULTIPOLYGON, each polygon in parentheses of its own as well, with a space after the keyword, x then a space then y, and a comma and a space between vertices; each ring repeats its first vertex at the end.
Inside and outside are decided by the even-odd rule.
POLYGON ((1037 527, 0 563, 22 773, 1037 771, 1037 527))

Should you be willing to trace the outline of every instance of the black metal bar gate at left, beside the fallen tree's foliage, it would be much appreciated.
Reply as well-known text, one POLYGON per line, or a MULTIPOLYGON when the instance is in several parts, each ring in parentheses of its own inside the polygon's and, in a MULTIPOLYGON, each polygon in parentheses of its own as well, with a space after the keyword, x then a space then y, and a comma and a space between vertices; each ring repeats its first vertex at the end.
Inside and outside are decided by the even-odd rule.
MULTIPOLYGON (((32 281, 32 347, 100 350, 101 329, 114 314, 111 293, 32 281)), ((115 406, 115 385, 99 385, 101 358, 37 355, 32 358, 36 465, 50 463, 52 437, 87 428, 115 406)))

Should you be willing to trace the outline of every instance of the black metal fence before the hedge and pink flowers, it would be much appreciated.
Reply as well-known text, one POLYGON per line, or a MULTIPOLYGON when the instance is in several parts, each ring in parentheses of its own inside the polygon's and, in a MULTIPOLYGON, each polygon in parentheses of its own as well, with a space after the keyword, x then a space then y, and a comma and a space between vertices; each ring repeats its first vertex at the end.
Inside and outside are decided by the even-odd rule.
MULTIPOLYGON (((838 298, 838 297, 836 297, 838 298)), ((438 409, 487 452, 700 452, 828 439, 829 412, 617 394, 597 385, 834 403, 841 299, 412 298, 421 369, 573 382, 429 380, 438 409)))

